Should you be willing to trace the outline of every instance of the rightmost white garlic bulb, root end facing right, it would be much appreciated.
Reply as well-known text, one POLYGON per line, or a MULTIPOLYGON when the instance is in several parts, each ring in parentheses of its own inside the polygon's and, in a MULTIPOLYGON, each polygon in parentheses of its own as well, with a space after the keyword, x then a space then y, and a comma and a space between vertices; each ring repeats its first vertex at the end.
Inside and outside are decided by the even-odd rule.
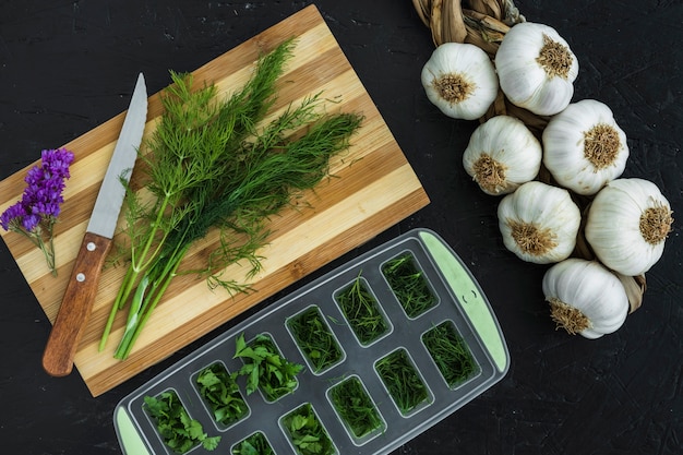
POLYGON ((673 212, 659 188, 644 179, 615 179, 588 208, 585 235, 606 266, 626 276, 646 273, 661 258, 673 212))

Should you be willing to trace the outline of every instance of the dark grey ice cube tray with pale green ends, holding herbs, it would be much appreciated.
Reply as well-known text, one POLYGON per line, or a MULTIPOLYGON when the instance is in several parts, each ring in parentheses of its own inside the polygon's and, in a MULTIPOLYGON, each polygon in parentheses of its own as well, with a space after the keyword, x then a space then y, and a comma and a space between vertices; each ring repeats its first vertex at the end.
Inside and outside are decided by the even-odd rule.
MULTIPOLYGON (((127 455, 172 454, 143 404, 145 396, 175 391, 190 417, 199 420, 209 436, 221 436, 215 453, 231 454, 235 444, 261 433, 275 454, 299 454, 284 421, 310 405, 332 442, 329 454, 387 454, 491 387, 505 375, 508 364, 504 336, 476 279, 439 235, 420 228, 337 267, 188 355, 123 398, 115 410, 115 427, 127 455), (426 280, 422 288, 432 294, 428 308, 412 316, 399 303, 383 270, 390 261, 406 254, 426 280), (371 342, 360 342, 349 324, 350 314, 347 316, 342 308, 339 296, 354 284, 366 287, 366 297, 376 301, 386 323, 371 342), (288 324, 310 309, 319 310, 322 318, 316 324, 323 322, 320 331, 328 332, 340 348, 337 357, 322 368, 311 361, 288 324), (451 384, 424 342, 424 335, 443 323, 455 330, 471 360, 471 371, 451 384), (297 376, 295 391, 274 402, 262 393, 247 395, 244 382, 239 382, 249 411, 237 423, 223 426, 214 421, 193 379, 215 362, 221 362, 230 372, 239 370, 243 361, 233 354, 240 335, 247 340, 269 336, 283 357, 304 369, 297 376), (398 367, 381 367, 387 357, 402 358, 405 366, 400 368, 415 376, 408 392, 410 397, 417 396, 416 403, 404 403, 400 384, 391 379, 392 369, 398 367), (390 378, 384 376, 386 371, 390 378), (361 386, 379 418, 376 428, 364 434, 355 434, 333 405, 332 390, 350 379, 357 380, 355 385, 361 386), (423 393, 416 394, 420 387, 423 393)), ((212 452, 197 445, 189 453, 212 452)))

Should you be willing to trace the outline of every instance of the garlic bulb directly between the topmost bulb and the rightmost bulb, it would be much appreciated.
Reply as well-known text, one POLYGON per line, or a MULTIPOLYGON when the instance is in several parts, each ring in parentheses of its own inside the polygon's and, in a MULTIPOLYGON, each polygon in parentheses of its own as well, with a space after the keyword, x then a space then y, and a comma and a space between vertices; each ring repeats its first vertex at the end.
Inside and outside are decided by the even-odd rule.
POLYGON ((591 195, 620 177, 628 145, 612 110, 595 99, 567 106, 543 130, 543 164, 564 188, 591 195))

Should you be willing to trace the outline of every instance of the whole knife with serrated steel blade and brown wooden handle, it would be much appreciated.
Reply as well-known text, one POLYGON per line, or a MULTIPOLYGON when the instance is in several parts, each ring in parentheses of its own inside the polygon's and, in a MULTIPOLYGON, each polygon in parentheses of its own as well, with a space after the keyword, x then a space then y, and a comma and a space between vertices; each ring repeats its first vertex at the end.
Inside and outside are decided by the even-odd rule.
POLYGON ((121 180, 130 179, 146 119, 147 88, 141 73, 43 354, 43 368, 52 376, 65 376, 73 369, 123 204, 125 188, 121 180))

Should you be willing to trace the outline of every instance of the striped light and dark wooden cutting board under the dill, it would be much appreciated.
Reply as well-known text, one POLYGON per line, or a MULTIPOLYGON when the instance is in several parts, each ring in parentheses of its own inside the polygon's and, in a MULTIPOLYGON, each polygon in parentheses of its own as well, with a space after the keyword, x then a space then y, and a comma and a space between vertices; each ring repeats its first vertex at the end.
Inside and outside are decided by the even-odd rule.
MULTIPOLYGON (((232 298, 223 289, 211 290, 206 282, 194 276, 177 277, 125 361, 112 358, 123 332, 125 312, 119 312, 106 350, 97 349, 124 272, 124 267, 106 267, 93 315, 75 357, 76 369, 94 396, 170 356, 429 203, 420 181, 315 7, 301 10, 197 69, 194 80, 197 86, 205 81, 230 93, 249 79, 260 55, 291 36, 297 37, 295 56, 279 82, 275 109, 323 91, 326 98, 336 101, 329 109, 364 116, 350 149, 332 164, 331 172, 335 178, 324 180, 314 192, 305 193, 298 203, 299 208, 286 209, 281 216, 273 218, 269 243, 260 251, 265 258, 263 271, 249 280, 253 292, 232 298)), ((156 94, 149 97, 145 135, 154 130, 160 113, 156 94)), ((56 230, 58 277, 51 276, 40 251, 28 240, 2 230, 3 240, 50 321, 55 320, 61 303, 123 116, 64 145, 74 152, 75 160, 56 230)), ((0 182, 0 211, 21 199, 26 170, 0 182)), ((209 236, 191 250, 187 260, 201 260, 215 241, 215 237, 209 236)), ((239 278, 244 276, 245 268, 236 264, 225 273, 239 278)))

